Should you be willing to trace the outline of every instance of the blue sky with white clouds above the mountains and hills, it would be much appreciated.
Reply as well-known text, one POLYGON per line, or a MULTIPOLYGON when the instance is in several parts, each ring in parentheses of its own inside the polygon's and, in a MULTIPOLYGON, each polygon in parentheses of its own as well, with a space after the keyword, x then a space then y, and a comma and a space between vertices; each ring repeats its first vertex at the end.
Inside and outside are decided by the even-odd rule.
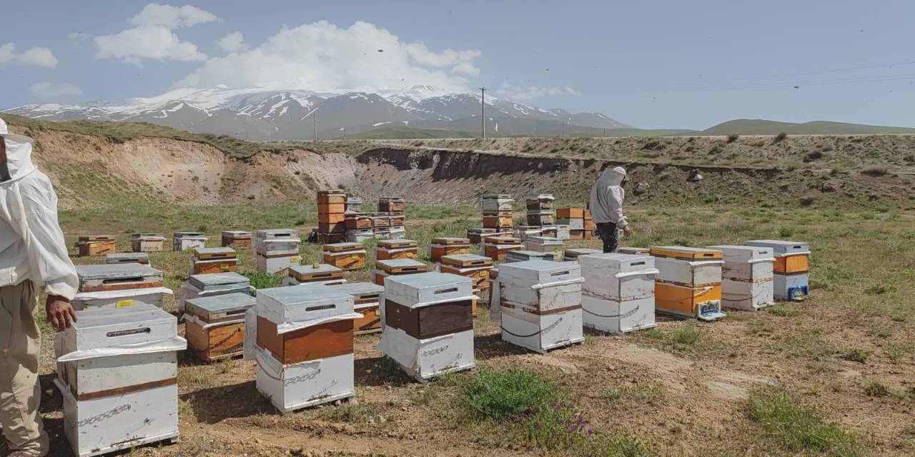
POLYGON ((313 90, 430 83, 485 85, 645 128, 702 129, 735 118, 915 126, 910 1, 161 5, 175 8, 6 5, 0 106, 219 82, 321 86, 303 87, 313 90), (178 8, 185 5, 194 7, 178 8), (218 44, 235 32, 242 40, 218 44))

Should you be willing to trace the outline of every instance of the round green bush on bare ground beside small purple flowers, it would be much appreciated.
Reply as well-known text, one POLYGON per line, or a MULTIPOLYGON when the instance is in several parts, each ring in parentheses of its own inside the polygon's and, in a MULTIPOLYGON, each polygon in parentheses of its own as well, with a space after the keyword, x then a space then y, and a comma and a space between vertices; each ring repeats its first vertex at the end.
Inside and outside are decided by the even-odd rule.
POLYGON ((479 368, 468 383, 465 406, 480 420, 514 420, 554 402, 553 381, 523 368, 479 368))

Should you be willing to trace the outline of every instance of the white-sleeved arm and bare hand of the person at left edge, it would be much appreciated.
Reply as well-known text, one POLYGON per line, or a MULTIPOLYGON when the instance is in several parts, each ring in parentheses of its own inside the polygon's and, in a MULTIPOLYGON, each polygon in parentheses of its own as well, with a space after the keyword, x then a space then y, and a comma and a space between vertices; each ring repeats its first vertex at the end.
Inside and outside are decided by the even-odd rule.
POLYGON ((76 321, 70 300, 80 287, 80 279, 60 231, 57 194, 47 178, 22 184, 21 195, 31 239, 28 256, 32 281, 48 293, 45 303, 48 322, 59 330, 68 328, 76 321))

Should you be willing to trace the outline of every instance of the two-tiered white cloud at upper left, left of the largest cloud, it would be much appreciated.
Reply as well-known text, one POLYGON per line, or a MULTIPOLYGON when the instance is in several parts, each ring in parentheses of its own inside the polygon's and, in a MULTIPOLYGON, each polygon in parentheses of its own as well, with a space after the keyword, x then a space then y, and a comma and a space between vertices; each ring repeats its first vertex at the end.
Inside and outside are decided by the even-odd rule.
POLYGON ((134 28, 113 35, 95 37, 95 58, 116 58, 140 66, 144 59, 206 60, 197 45, 181 41, 172 30, 220 20, 195 6, 145 5, 140 14, 130 19, 134 28))

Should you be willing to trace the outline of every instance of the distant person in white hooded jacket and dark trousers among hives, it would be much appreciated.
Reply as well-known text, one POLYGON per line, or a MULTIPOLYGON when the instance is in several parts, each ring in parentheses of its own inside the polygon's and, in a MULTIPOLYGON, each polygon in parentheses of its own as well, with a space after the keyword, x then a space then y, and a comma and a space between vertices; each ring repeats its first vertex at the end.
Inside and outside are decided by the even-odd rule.
POLYGON ((618 230, 630 236, 632 229, 623 216, 623 198, 626 191, 626 169, 617 166, 607 168, 591 187, 589 209, 591 218, 597 224, 597 236, 604 241, 604 252, 615 252, 619 246, 618 230))

